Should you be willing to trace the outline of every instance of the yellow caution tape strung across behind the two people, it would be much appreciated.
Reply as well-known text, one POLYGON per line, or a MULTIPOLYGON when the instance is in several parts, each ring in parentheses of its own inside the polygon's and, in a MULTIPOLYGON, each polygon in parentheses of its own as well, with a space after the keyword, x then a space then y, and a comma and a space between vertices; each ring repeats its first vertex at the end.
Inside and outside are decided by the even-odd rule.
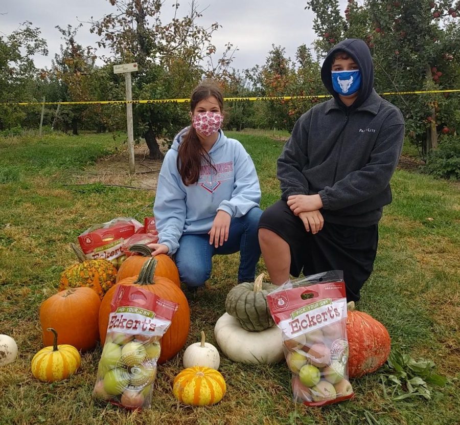
MULTIPOLYGON (((460 89, 452 90, 427 90, 415 92, 385 92, 380 93, 380 96, 394 96, 394 95, 427 95, 434 93, 458 93, 460 89)), ((241 101, 258 101, 258 100, 306 100, 306 99, 324 99, 331 97, 331 95, 311 95, 311 96, 265 96, 265 97, 225 97, 227 102, 241 102, 241 101)), ((82 102, 1 102, 0 105, 119 105, 119 104, 141 104, 141 103, 186 103, 190 99, 148 99, 148 100, 91 100, 82 102)))

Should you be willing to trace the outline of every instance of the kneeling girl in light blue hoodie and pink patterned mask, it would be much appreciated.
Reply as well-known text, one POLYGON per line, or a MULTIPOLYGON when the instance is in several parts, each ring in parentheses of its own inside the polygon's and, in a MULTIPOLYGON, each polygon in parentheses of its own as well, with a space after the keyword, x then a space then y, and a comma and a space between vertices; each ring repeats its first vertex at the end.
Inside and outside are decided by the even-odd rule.
POLYGON ((192 125, 174 138, 159 173, 152 255, 175 254, 181 281, 196 289, 210 277, 213 255, 240 251, 238 282, 254 282, 262 214, 256 169, 241 143, 220 129, 216 86, 198 85, 190 106, 192 125))

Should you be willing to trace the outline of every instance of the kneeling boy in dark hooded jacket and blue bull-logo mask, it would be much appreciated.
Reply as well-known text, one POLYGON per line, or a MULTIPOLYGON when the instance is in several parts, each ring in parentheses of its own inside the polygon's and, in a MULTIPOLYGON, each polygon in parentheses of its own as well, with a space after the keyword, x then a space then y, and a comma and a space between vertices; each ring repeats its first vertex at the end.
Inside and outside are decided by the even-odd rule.
POLYGON ((363 40, 328 53, 321 79, 333 96, 294 125, 278 159, 281 200, 264 211, 259 242, 272 283, 342 270, 358 301, 377 252, 378 221, 404 139, 400 110, 374 90, 363 40))

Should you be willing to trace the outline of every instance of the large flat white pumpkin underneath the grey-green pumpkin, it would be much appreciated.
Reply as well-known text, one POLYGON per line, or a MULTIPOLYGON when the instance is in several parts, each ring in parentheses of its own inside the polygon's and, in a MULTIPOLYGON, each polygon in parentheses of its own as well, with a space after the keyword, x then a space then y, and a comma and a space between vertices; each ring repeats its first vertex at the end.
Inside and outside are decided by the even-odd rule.
POLYGON ((228 359, 240 363, 269 364, 284 360, 281 329, 244 330, 237 318, 225 313, 214 327, 216 342, 228 359))

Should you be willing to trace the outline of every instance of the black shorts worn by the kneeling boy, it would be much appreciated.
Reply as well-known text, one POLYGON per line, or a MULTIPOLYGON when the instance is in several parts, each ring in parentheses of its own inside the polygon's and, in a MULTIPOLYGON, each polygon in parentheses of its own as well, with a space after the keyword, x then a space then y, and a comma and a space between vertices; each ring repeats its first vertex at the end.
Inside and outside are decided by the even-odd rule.
POLYGON ((282 237, 290 247, 292 276, 305 276, 330 270, 342 270, 348 301, 359 300, 359 290, 374 267, 378 244, 378 225, 351 227, 324 223, 313 235, 303 221, 279 200, 267 208, 259 229, 268 229, 282 237))

